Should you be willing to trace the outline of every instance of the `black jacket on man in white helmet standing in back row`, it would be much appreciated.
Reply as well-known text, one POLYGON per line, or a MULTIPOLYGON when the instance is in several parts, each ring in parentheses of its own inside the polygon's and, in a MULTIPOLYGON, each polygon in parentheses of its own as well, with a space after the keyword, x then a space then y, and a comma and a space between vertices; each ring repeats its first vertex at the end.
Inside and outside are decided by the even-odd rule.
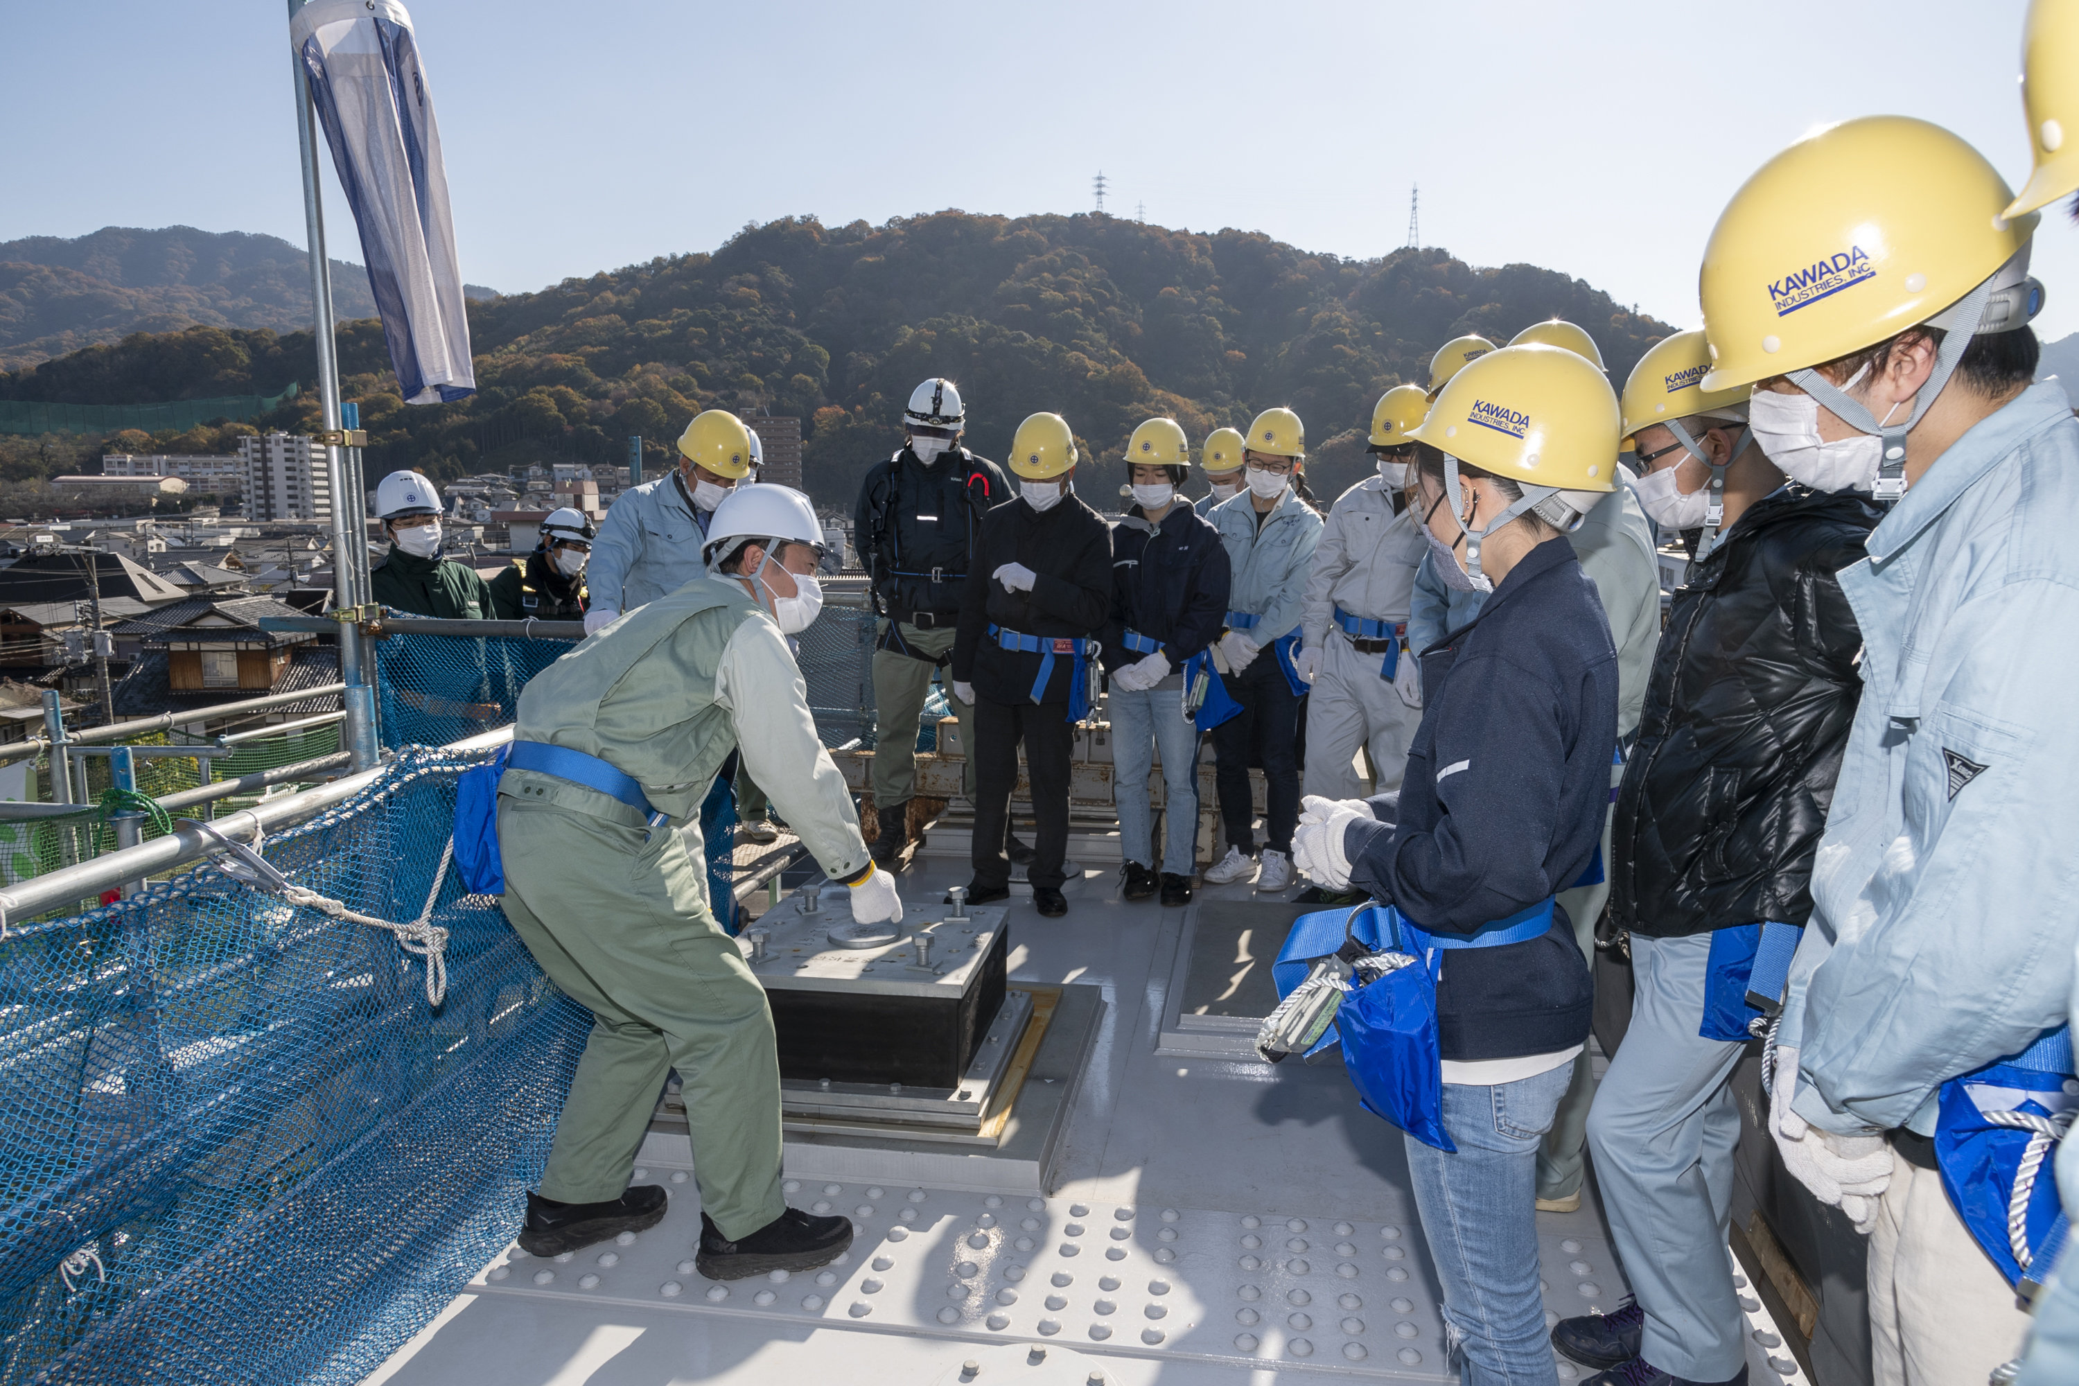
POLYGON ((929 468, 904 447, 867 472, 852 544, 871 574, 875 609, 898 621, 950 625, 975 567, 981 515, 1015 499, 1002 470, 965 447, 940 453, 929 468), (917 613, 927 613, 925 621, 917 613))

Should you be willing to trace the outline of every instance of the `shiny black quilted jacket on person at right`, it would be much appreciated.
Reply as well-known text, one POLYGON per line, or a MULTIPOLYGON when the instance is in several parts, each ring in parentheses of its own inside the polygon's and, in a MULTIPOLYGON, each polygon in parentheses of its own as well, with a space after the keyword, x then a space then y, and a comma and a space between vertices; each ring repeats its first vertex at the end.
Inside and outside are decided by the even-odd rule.
POLYGON ((1615 925, 1680 937, 1811 914, 1863 692, 1863 634, 1834 574, 1881 517, 1852 492, 1784 486, 1690 565, 1617 790, 1615 925))

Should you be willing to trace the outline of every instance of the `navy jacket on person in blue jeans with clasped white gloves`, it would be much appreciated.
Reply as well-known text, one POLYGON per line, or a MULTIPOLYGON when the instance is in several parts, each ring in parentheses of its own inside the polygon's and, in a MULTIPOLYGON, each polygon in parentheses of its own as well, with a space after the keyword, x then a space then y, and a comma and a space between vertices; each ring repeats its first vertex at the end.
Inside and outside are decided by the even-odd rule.
MULTIPOLYGON (((1432 933, 1478 933, 1595 858, 1617 748, 1617 650, 1563 538, 1532 549, 1480 613, 1422 655, 1426 702, 1399 794, 1351 823, 1351 885, 1432 933)), ((1443 954, 1443 1058, 1551 1054, 1588 1037, 1574 925, 1443 954)))

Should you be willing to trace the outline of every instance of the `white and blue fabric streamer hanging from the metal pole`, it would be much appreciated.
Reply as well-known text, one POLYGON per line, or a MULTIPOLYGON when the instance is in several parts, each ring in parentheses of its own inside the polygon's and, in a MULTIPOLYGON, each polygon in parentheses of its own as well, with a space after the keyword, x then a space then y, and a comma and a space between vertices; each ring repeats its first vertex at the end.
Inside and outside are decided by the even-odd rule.
POLYGON ((312 0, 289 21, 405 403, 476 393, 432 96, 395 0, 312 0))

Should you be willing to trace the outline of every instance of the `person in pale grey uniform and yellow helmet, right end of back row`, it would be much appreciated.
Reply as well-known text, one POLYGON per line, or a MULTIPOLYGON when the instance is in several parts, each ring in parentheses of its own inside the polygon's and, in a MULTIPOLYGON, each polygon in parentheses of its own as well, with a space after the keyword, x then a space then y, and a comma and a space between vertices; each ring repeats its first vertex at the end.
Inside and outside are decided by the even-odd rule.
POLYGON ((1372 409, 1370 451, 1378 476, 1337 497, 1314 549, 1293 659, 1312 686, 1306 713, 1306 790, 1360 798, 1356 756, 1372 763, 1372 792, 1401 788, 1407 742, 1422 721, 1422 688, 1407 655, 1407 596, 1428 542, 1407 513, 1410 430, 1428 395, 1395 384, 1372 409))

